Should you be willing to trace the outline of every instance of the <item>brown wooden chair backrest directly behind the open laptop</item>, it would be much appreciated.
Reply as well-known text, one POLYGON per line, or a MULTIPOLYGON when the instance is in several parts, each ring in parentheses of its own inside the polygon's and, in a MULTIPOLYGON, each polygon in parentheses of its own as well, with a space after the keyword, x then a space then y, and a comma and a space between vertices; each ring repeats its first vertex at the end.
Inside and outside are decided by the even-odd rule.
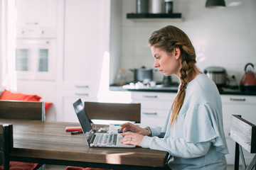
POLYGON ((126 120, 140 123, 140 103, 85 102, 85 111, 90 120, 126 120))

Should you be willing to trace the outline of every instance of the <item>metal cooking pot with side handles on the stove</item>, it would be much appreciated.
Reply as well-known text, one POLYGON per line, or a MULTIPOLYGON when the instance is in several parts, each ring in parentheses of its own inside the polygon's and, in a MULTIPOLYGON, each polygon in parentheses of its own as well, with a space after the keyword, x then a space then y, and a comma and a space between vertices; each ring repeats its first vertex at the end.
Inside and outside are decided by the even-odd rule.
POLYGON ((130 71, 134 72, 134 82, 141 81, 147 82, 153 80, 153 73, 155 72, 154 69, 147 69, 146 67, 142 66, 139 69, 129 69, 130 71))

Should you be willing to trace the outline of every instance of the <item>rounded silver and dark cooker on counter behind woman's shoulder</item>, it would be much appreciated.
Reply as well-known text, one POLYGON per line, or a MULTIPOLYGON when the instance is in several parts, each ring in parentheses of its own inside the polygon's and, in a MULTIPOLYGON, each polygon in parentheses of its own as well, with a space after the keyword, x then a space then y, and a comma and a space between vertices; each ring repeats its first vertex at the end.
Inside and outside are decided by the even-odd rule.
POLYGON ((206 67, 203 72, 215 82, 218 89, 222 89, 225 86, 227 72, 223 67, 206 67))

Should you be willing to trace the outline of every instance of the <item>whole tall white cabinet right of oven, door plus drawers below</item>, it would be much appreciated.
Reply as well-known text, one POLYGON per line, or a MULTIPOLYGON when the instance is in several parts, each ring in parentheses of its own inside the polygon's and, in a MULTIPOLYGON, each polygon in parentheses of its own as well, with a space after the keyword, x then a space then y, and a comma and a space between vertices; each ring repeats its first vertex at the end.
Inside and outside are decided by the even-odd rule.
POLYGON ((78 122, 73 103, 97 101, 102 64, 109 56, 110 0, 65 0, 58 26, 56 120, 78 122))

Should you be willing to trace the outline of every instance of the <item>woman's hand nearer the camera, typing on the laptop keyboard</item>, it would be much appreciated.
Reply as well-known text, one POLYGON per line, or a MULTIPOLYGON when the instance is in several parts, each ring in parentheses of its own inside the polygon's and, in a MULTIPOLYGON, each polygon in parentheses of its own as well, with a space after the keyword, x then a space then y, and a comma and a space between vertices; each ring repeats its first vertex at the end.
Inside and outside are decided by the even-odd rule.
POLYGON ((138 133, 134 132, 123 132, 122 140, 120 140, 121 143, 123 144, 130 144, 130 145, 137 145, 139 147, 142 147, 142 140, 144 135, 139 135, 138 133))

